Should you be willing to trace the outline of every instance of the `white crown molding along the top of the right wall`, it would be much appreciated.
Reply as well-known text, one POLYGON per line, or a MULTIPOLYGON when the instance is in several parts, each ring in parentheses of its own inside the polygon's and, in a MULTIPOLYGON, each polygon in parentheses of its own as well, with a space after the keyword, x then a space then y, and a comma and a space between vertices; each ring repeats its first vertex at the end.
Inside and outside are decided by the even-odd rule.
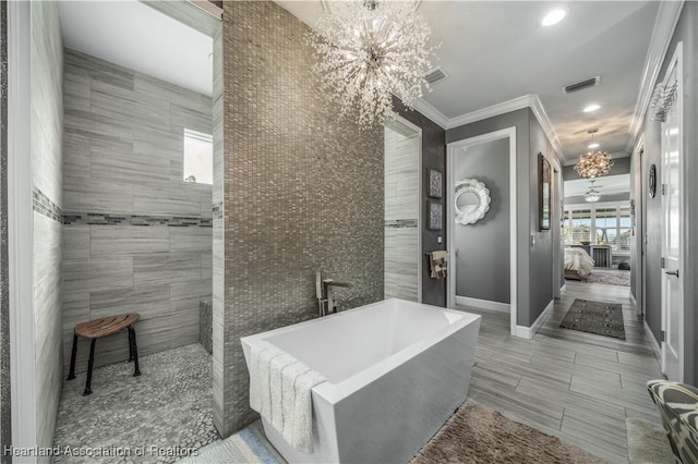
POLYGON ((684 0, 663 1, 659 4, 657 20, 654 20, 654 28, 650 38, 650 46, 647 50, 645 60, 645 69, 642 70, 642 80, 638 94, 637 103, 635 105, 635 113, 630 123, 630 136, 628 138, 627 150, 631 152, 635 148, 637 136, 642 129, 645 122, 645 113, 652 98, 652 90, 659 78, 659 72, 662 69, 669 46, 672 41, 676 23, 684 8, 684 0))

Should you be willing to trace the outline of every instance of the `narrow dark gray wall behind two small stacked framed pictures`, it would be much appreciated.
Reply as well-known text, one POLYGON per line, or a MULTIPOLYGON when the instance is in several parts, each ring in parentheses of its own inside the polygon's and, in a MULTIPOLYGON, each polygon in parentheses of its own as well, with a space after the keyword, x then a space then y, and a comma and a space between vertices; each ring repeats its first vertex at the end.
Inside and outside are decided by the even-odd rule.
MULTIPOLYGON (((420 113, 419 111, 407 110, 402 102, 393 97, 393 106, 395 111, 422 129, 422 175, 426 175, 426 169, 437 169, 444 174, 444 188, 446 182, 446 131, 435 124, 429 118, 420 113)), ((426 200, 433 200, 428 198, 426 193, 422 192, 422 207, 426 209, 426 200)), ((442 204, 444 199, 442 198, 442 204)), ((446 223, 444 222, 444 229, 441 231, 428 230, 425 222, 426 218, 422 220, 422 252, 435 252, 438 249, 446 249, 446 223), (442 242, 438 242, 442 239, 442 242)), ((421 264, 421 279, 422 279, 422 303, 446 307, 446 279, 432 279, 429 268, 429 258, 423 255, 421 264)))

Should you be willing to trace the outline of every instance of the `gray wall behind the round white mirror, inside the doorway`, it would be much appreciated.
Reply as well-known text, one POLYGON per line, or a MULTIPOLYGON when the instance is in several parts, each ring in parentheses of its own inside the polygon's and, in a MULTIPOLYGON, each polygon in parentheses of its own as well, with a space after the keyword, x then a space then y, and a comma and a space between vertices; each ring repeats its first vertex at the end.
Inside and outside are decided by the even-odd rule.
MULTIPOLYGON (((488 142, 459 150, 456 181, 474 179, 490 190, 490 210, 474 224, 456 224, 456 295, 491 302, 510 302, 509 139, 488 142)), ((450 194, 450 193, 449 193, 450 194)))

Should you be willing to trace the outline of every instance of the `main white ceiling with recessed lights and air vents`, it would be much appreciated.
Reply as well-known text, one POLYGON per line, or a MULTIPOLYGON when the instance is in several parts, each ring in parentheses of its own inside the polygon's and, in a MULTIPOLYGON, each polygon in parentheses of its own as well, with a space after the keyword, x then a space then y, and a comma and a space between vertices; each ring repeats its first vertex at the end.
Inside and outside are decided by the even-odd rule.
MULTIPOLYGON (((277 0, 311 27, 320 0, 277 0)), ((454 119, 525 95, 539 95, 565 163, 587 151, 598 127, 601 149, 628 156, 630 124, 659 3, 657 1, 435 1, 419 11, 432 28, 435 65, 450 77, 423 100, 454 119), (552 27, 553 8, 569 9, 552 27), (564 95, 562 87, 597 75, 601 85, 564 95), (602 105, 593 113, 581 110, 602 105)))

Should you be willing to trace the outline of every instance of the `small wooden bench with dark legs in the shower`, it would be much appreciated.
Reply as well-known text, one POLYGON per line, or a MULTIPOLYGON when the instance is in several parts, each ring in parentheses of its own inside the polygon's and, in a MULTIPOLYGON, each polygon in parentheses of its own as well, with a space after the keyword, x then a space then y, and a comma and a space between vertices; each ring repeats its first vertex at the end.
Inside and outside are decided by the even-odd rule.
POLYGON ((75 378, 75 355, 77 354, 77 337, 92 340, 89 344, 89 362, 87 363, 87 381, 83 396, 92 393, 92 368, 95 364, 95 342, 103 337, 111 335, 123 329, 129 331, 129 361, 133 361, 135 371, 133 377, 141 375, 139 368, 139 347, 135 343, 135 329, 133 323, 141 318, 137 313, 120 314, 117 316, 103 317, 100 319, 88 320, 75 326, 73 330, 73 351, 70 356, 70 374, 67 380, 75 378))

